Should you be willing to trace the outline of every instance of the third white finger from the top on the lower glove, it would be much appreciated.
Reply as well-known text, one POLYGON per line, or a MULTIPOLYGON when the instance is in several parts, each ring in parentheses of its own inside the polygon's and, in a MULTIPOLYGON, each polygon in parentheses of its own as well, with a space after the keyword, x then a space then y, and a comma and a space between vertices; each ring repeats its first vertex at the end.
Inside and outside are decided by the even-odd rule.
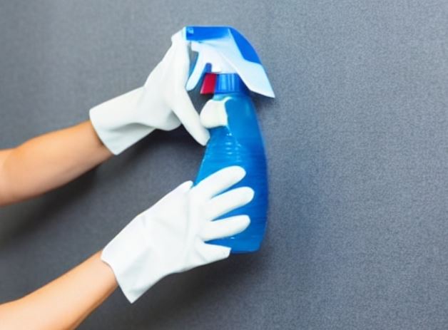
POLYGON ((243 232, 250 225, 248 215, 237 215, 223 220, 208 222, 200 233, 204 241, 233 236, 243 232))

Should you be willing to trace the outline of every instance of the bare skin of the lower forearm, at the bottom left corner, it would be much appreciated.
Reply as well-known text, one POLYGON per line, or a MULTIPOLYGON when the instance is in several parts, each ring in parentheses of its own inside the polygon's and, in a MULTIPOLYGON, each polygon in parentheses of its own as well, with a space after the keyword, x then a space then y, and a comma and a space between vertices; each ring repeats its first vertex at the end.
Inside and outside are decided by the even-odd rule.
POLYGON ((75 329, 116 287, 98 252, 36 292, 0 305, 1 329, 75 329))

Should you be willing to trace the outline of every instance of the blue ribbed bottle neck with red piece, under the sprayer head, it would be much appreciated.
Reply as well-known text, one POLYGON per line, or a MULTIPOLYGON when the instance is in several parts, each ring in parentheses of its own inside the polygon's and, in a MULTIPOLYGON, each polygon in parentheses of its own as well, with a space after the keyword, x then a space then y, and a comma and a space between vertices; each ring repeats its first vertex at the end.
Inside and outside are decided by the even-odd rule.
POLYGON ((249 94, 249 89, 237 73, 205 73, 202 90, 215 95, 249 94))

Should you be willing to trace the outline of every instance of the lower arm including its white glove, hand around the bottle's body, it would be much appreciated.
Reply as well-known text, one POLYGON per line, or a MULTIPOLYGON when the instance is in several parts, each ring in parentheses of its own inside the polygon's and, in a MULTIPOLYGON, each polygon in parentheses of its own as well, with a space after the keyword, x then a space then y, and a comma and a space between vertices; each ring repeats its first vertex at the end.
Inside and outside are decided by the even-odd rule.
POLYGON ((129 222, 103 252, 36 292, 0 305, 0 328, 74 329, 117 283, 133 302, 168 274, 229 257, 229 247, 207 241, 238 234, 250 224, 247 215, 221 217, 252 200, 249 187, 229 190, 244 176, 233 166, 194 187, 191 181, 179 185, 129 222))

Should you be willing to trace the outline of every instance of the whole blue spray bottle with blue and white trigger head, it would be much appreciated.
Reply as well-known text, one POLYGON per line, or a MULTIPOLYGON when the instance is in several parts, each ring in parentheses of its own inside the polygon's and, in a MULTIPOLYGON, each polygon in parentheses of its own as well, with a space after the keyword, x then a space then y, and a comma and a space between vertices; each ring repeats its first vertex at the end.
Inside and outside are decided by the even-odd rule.
POLYGON ((274 97, 260 58, 247 39, 228 26, 187 26, 185 38, 198 53, 187 82, 191 91, 202 81, 201 93, 213 94, 200 113, 210 140, 195 184, 230 165, 246 170, 238 187, 255 191, 252 202, 225 217, 249 215, 250 226, 240 234, 210 243, 232 248, 232 253, 255 252, 265 234, 268 212, 268 172, 263 137, 250 91, 274 97))

